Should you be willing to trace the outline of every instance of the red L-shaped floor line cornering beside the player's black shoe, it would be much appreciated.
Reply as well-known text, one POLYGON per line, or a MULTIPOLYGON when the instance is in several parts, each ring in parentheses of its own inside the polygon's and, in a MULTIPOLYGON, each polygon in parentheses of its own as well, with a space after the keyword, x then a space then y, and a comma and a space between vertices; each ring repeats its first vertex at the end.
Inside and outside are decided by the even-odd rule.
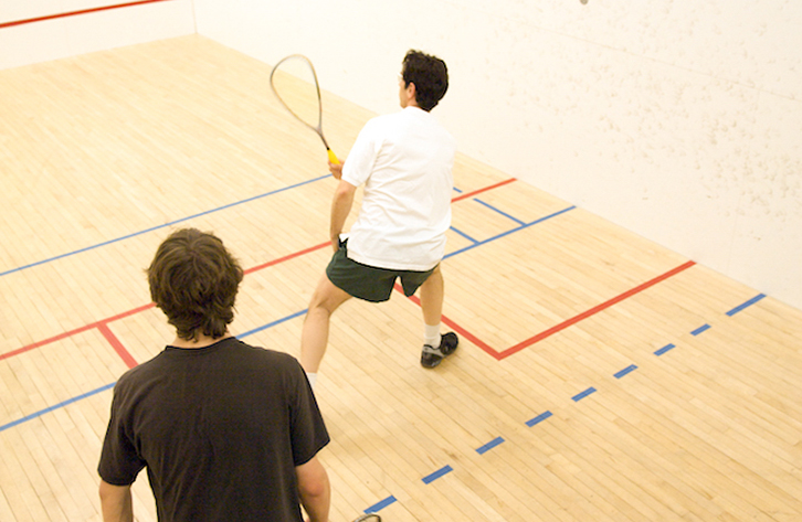
MULTIPOLYGON (((450 327, 452 330, 454 330, 456 333, 458 333, 462 338, 467 339, 472 343, 476 344, 478 348, 481 348, 488 354, 493 355, 497 361, 502 361, 502 360, 508 358, 509 355, 517 353, 517 352, 524 350, 525 348, 535 344, 538 341, 542 341, 544 339, 551 337, 555 333, 562 331, 566 328, 573 326, 584 319, 588 319, 589 317, 594 316, 594 315, 599 313, 600 311, 605 310, 605 309, 612 307, 613 305, 621 302, 624 299, 627 299, 627 298, 634 296, 635 294, 639 294, 639 292, 645 290, 646 288, 653 287, 654 285, 656 285, 661 281, 664 281, 665 279, 668 279, 669 277, 675 276, 683 270, 690 268, 695 264, 696 264, 695 262, 687 262, 683 265, 679 265, 678 267, 673 268, 673 269, 666 271, 665 274, 661 274, 659 276, 657 276, 653 279, 650 279, 646 283, 636 286, 635 288, 626 290, 625 292, 620 294, 620 295, 613 297, 612 299, 609 299, 609 300, 602 302, 601 305, 598 305, 589 310, 583 311, 582 313, 579 313, 570 319, 567 319, 567 320, 560 322, 559 324, 556 324, 556 326, 549 328, 548 330, 544 330, 542 332, 538 333, 537 335, 534 335, 534 337, 531 337, 525 341, 521 341, 518 344, 516 344, 511 348, 508 348, 504 351, 500 351, 500 352, 497 351, 496 349, 494 349, 493 347, 490 347, 489 344, 487 344, 486 342, 484 342, 483 340, 481 340, 479 338, 477 338, 476 335, 474 335, 473 333, 471 333, 469 331, 465 330, 462 326, 460 326, 457 322, 449 319, 447 317, 442 316, 442 320, 447 327, 450 327)), ((398 285, 395 286, 395 289, 403 292, 401 287, 398 285)), ((420 299, 415 296, 411 296, 410 299, 412 301, 416 302, 418 305, 421 303, 420 299)))

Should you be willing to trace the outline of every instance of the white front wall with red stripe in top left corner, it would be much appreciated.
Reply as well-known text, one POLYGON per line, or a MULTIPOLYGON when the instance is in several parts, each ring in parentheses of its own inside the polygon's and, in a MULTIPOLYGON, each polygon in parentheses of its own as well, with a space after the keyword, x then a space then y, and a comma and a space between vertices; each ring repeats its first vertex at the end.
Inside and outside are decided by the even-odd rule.
POLYGON ((136 0, 0 0, 0 70, 196 32, 192 0, 2 26, 131 1, 136 0))

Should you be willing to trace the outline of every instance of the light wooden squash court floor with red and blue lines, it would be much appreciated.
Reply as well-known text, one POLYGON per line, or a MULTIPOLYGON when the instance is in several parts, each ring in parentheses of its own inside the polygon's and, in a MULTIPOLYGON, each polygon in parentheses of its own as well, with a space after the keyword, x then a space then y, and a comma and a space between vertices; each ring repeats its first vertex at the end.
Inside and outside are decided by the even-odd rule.
MULTIPOLYGON (((101 520, 110 387, 172 335, 143 271, 172 230, 250 269, 234 333, 298 353, 335 182, 268 74, 199 36, 0 72, 1 521, 101 520)), ((324 104, 346 157, 372 115, 324 104)), ((457 354, 420 367, 400 294, 333 320, 334 522, 802 520, 802 312, 467 157, 454 178, 457 354)))

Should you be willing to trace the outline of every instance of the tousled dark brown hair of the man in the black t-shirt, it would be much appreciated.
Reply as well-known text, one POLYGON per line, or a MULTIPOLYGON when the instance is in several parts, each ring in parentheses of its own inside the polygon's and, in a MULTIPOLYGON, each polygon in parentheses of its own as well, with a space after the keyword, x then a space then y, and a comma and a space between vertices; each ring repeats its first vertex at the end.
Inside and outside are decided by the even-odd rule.
POLYGON ((243 273, 213 234, 183 228, 170 234, 147 269, 150 297, 180 339, 218 339, 234 320, 243 273))

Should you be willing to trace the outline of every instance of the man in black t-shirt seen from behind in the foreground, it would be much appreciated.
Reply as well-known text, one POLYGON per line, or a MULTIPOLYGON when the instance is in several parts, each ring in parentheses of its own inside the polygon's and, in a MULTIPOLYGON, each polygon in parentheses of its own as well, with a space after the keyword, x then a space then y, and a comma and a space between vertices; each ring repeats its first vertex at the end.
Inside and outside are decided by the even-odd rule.
POLYGON ((288 354, 228 331, 242 269, 220 239, 173 233, 148 268, 176 327, 161 353, 117 382, 98 471, 103 518, 133 521, 130 484, 147 468, 159 521, 327 522, 329 441, 288 354))

